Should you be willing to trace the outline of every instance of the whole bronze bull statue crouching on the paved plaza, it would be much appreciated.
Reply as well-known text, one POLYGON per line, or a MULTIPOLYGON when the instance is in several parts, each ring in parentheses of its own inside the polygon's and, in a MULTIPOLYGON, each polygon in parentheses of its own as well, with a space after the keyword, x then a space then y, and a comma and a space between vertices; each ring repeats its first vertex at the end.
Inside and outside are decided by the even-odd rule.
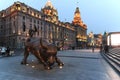
POLYGON ((64 65, 57 57, 57 46, 44 42, 41 38, 27 39, 25 43, 24 58, 21 64, 27 64, 27 57, 30 52, 44 65, 45 69, 51 69, 55 62, 59 67, 64 65))

